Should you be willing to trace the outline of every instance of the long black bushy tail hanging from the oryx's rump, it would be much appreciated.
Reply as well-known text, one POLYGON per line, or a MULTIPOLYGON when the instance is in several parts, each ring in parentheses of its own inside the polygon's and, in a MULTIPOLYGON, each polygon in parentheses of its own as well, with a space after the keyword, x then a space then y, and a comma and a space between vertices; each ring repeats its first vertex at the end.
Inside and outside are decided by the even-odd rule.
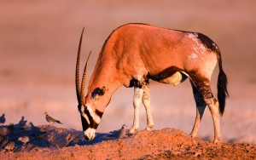
POLYGON ((217 96, 218 96, 218 103, 219 103, 219 113, 222 116, 224 113, 226 98, 229 97, 229 92, 227 89, 228 78, 223 71, 220 55, 218 60, 218 67, 219 67, 219 73, 218 73, 218 84, 217 84, 217 88, 218 88, 217 96))

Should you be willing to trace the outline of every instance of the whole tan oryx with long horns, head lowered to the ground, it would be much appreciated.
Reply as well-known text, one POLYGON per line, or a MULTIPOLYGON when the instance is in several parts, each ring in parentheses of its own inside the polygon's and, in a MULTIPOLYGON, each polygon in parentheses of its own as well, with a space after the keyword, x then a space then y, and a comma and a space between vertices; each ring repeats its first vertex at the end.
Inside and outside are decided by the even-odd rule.
POLYGON ((147 113, 147 130, 154 127, 150 111, 149 79, 177 85, 187 77, 193 88, 196 117, 191 136, 197 137, 201 117, 208 106, 214 124, 214 143, 221 139, 219 115, 224 113, 227 77, 220 51, 209 37, 189 31, 175 31, 146 24, 127 24, 114 30, 103 44, 84 95, 88 56, 79 87, 80 37, 76 66, 76 93, 85 140, 95 138, 96 129, 113 92, 120 86, 134 87, 134 121, 130 133, 138 129, 141 101, 147 113), (218 100, 211 89, 212 71, 218 63, 218 100))

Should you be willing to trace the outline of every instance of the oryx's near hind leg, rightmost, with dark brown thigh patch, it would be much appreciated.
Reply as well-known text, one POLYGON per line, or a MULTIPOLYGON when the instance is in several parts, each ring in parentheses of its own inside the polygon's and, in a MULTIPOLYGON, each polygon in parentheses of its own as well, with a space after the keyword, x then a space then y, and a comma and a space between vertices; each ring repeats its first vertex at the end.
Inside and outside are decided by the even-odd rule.
MULTIPOLYGON (((219 109, 218 100, 216 100, 212 94, 210 86, 210 79, 202 77, 201 75, 192 74, 192 82, 195 84, 196 89, 201 93, 202 98, 205 100, 209 110, 212 114, 213 126, 214 126, 214 140, 213 143, 218 143, 221 140, 220 125, 219 125, 219 109)), ((193 131, 192 131, 193 132, 193 131)))

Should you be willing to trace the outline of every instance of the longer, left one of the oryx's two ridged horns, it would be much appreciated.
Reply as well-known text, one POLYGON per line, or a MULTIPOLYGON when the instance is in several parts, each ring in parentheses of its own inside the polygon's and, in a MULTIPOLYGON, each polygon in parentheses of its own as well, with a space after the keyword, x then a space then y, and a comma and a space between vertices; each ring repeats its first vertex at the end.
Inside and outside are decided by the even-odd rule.
POLYGON ((78 51, 78 56, 77 56, 77 65, 76 65, 76 93, 77 93, 77 99, 80 104, 80 83, 79 83, 79 64, 80 64, 80 52, 81 52, 81 45, 83 41, 83 34, 84 34, 84 28, 81 33, 80 41, 79 41, 79 51, 78 51))

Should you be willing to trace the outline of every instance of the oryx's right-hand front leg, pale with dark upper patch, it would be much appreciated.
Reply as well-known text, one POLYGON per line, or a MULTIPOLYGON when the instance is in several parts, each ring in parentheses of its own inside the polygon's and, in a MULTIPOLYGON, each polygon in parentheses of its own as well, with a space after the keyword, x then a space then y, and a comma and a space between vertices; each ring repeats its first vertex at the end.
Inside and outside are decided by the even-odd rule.
POLYGON ((146 130, 151 130, 154 128, 153 118, 150 109, 150 90, 149 82, 146 80, 143 83, 143 105, 145 106, 146 115, 147 115, 147 128, 146 130))

